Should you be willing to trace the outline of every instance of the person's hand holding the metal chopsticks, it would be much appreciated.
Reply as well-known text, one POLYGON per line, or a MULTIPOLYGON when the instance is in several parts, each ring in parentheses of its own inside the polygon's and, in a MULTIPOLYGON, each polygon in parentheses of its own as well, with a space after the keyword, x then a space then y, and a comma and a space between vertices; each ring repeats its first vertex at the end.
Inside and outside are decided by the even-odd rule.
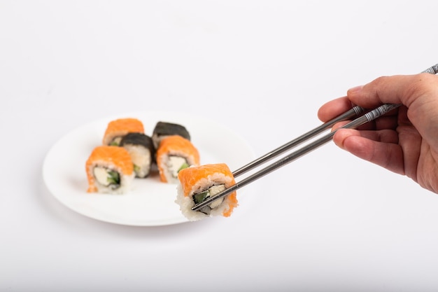
POLYGON ((381 104, 402 106, 357 130, 337 130, 334 143, 438 193, 438 76, 423 73, 377 78, 321 106, 318 118, 327 122, 354 105, 374 109, 381 104))

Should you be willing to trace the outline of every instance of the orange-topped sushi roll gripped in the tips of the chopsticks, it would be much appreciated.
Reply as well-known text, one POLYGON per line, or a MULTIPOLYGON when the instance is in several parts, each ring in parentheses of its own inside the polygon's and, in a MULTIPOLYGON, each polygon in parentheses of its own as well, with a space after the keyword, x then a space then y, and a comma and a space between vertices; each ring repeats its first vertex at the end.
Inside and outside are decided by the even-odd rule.
POLYGON ((197 221, 209 216, 229 217, 237 207, 236 191, 211 202, 198 211, 192 211, 195 204, 204 202, 209 197, 221 193, 233 186, 234 176, 225 163, 201 165, 182 169, 178 174, 176 204, 183 215, 190 221, 197 221))

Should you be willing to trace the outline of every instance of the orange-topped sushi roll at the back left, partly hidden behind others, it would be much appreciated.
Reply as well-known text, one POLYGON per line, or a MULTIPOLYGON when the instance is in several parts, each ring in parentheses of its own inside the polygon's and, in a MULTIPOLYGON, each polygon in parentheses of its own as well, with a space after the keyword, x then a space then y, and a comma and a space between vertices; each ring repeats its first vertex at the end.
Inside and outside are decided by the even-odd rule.
POLYGON ((128 133, 144 133, 143 123, 136 118, 119 118, 108 123, 102 144, 119 146, 122 137, 128 133))

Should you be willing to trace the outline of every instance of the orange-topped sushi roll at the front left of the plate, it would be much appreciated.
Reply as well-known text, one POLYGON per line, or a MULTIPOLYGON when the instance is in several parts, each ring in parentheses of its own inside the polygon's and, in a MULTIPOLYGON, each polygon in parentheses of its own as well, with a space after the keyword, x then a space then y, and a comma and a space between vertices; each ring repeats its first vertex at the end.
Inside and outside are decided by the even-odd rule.
POLYGON ((127 193, 134 179, 131 156, 125 148, 97 146, 85 162, 87 193, 127 193))

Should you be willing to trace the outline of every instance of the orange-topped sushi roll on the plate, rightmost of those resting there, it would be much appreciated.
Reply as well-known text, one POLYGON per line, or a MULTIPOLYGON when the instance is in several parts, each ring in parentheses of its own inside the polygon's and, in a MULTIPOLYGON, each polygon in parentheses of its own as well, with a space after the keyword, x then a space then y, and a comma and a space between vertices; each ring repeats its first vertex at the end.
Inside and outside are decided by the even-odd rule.
POLYGON ((178 183, 178 172, 192 165, 199 165, 199 152, 192 142, 178 135, 162 139, 157 149, 160 181, 178 183))

